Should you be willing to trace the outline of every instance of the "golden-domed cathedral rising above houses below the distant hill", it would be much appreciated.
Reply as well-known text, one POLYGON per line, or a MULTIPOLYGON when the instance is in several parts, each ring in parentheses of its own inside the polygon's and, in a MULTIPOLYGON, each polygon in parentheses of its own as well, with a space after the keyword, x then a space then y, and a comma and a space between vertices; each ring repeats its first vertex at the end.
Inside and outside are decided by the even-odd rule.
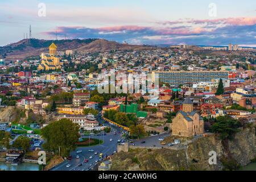
POLYGON ((57 55, 57 46, 54 43, 49 46, 49 54, 42 54, 41 58, 42 61, 38 66, 38 71, 49 71, 63 67, 63 61, 61 61, 61 57, 57 55))

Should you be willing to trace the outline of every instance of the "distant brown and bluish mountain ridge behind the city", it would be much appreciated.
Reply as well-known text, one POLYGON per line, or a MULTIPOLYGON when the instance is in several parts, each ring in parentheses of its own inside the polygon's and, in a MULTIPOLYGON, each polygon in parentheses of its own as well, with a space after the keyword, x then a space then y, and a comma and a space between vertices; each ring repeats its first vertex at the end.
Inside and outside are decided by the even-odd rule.
POLYGON ((72 40, 39 40, 23 39, 19 42, 0 47, 0 55, 6 60, 26 59, 47 52, 49 45, 54 42, 58 51, 72 49, 78 52, 101 52, 110 50, 142 50, 153 49, 150 46, 121 44, 104 39, 72 39, 72 40))

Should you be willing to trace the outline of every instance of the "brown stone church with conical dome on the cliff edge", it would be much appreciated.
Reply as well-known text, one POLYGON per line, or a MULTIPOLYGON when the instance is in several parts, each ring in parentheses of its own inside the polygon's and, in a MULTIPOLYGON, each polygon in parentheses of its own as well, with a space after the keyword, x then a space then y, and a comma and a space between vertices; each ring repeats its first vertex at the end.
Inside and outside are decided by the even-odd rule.
POLYGON ((193 137, 201 134, 204 134, 204 120, 193 110, 193 102, 190 98, 185 98, 182 110, 172 119, 172 135, 193 137))

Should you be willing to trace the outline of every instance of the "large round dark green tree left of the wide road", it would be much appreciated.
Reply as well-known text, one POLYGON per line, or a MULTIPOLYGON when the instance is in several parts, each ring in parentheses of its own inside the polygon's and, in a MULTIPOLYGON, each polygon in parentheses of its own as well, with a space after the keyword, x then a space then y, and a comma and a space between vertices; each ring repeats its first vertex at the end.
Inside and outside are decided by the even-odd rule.
POLYGON ((42 137, 46 140, 43 147, 48 151, 57 152, 60 156, 67 156, 77 147, 79 130, 79 125, 69 119, 49 123, 41 131, 42 137))

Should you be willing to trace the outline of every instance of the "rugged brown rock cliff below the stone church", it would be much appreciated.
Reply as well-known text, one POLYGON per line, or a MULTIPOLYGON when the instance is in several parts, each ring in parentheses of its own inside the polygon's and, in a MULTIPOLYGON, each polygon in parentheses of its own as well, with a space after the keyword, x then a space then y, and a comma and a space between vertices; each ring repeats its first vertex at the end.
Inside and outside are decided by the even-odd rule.
POLYGON ((119 152, 112 158, 112 170, 208 170, 219 171, 224 168, 223 158, 232 158, 241 166, 250 163, 256 156, 254 127, 246 128, 236 134, 233 140, 224 144, 220 139, 210 136, 197 139, 184 150, 168 149, 130 149, 119 152), (217 153, 217 164, 210 165, 209 152, 217 153))

